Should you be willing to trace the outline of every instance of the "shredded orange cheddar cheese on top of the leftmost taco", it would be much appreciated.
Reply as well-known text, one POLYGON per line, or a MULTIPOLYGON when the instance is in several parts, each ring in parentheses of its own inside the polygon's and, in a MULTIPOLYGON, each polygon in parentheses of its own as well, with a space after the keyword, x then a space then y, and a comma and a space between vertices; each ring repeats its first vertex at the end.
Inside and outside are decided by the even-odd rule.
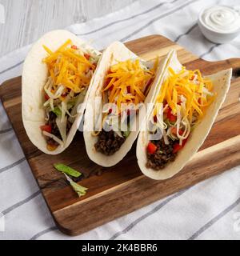
MULTIPOLYGON (((50 77, 52 78, 57 90, 58 85, 65 86, 63 93, 73 90, 74 93, 80 93, 90 84, 90 70, 95 70, 95 66, 84 54, 80 54, 77 47, 71 47, 73 43, 68 39, 56 51, 43 46, 48 56, 43 59, 46 63, 50 77)), ((61 98, 63 100, 64 98, 61 98)))

